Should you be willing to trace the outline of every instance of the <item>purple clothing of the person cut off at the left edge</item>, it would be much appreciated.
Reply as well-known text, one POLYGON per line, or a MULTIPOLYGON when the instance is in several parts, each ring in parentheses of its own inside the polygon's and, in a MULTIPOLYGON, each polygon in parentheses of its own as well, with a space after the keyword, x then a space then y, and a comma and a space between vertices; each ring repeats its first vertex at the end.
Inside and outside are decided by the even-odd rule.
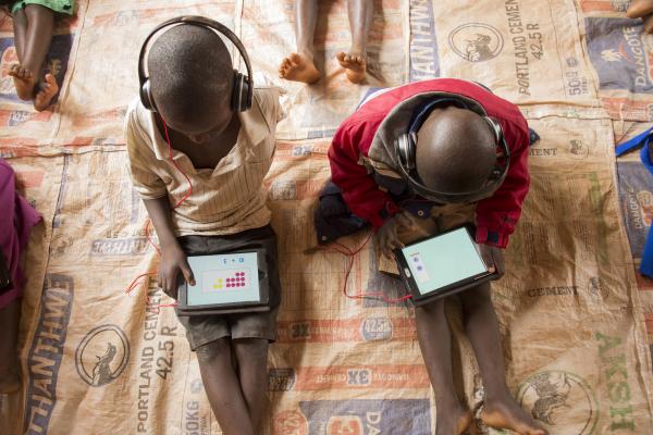
POLYGON ((40 220, 40 214, 16 192, 14 172, 0 159, 0 246, 13 284, 0 295, 0 309, 23 295, 24 276, 19 259, 27 246, 32 227, 40 220))

